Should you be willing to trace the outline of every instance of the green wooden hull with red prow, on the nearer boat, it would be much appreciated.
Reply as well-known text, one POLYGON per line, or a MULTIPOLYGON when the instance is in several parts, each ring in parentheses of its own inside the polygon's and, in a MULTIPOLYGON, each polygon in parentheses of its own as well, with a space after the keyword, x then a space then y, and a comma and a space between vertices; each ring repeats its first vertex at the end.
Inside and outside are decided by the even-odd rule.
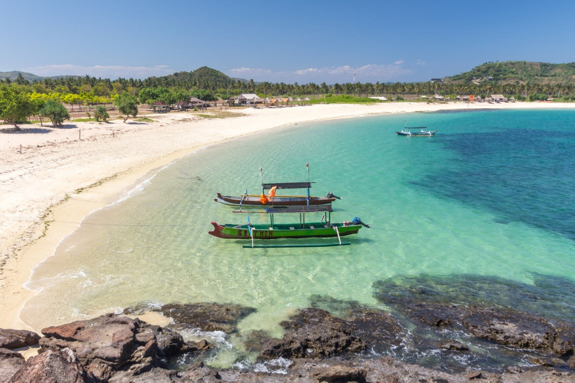
MULTIPOLYGON (((247 225, 232 225, 225 224, 219 225, 212 222, 214 227, 213 231, 209 234, 218 238, 228 239, 251 239, 250 230, 247 225)), ((300 223, 292 223, 275 225, 251 225, 254 239, 279 239, 279 238, 322 238, 322 237, 338 237, 335 229, 332 226, 337 226, 339 235, 357 234, 362 225, 344 225, 344 223, 332 223, 325 225, 321 222, 306 223, 304 227, 300 223)))

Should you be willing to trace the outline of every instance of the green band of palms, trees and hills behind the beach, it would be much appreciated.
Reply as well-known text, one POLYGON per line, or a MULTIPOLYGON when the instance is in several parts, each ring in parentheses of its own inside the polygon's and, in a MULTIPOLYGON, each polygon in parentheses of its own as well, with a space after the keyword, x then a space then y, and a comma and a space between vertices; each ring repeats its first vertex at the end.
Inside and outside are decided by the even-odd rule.
POLYGON ((430 100, 435 94, 452 99, 458 95, 485 98, 501 94, 518 100, 575 100, 575 63, 484 63, 459 75, 415 83, 256 83, 230 78, 208 67, 144 80, 90 76, 40 78, 31 73, 26 76, 22 72, 3 73, 9 76, 0 79, 0 119, 14 126, 31 115, 43 117, 39 111, 50 100, 68 105, 71 112, 89 113, 99 105, 115 105, 125 118, 136 116, 138 103, 174 105, 192 97, 205 101, 227 100, 241 93, 254 93, 261 98, 308 96, 311 103, 381 102, 369 96, 384 96, 395 101, 430 100))

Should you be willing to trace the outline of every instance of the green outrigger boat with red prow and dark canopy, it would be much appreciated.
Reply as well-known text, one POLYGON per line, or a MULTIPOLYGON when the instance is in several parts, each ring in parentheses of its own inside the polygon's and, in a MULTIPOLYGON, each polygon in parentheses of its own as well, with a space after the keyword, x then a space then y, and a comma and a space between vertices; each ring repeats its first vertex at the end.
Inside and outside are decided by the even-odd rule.
MULTIPOLYGON (((320 206, 289 206, 289 207, 268 207, 265 212, 270 214, 270 223, 267 224, 252 224, 247 223, 236 225, 226 223, 220 225, 217 222, 212 222, 214 227, 213 231, 209 234, 219 238, 227 239, 251 239, 251 245, 244 245, 243 247, 316 247, 316 246, 341 246, 351 245, 350 242, 342 242, 343 235, 357 234, 362 226, 369 227, 361 222, 361 219, 354 218, 351 222, 332 223, 331 222, 331 204, 320 206), (308 212, 324 212, 324 218, 320 222, 305 222, 305 213, 308 212), (277 213, 299 213, 299 223, 275 223, 274 214, 277 213), (326 214, 328 214, 326 216, 326 214), (280 238, 324 238, 324 237, 338 237, 338 242, 332 243, 293 243, 286 245, 255 245, 254 239, 280 239, 280 238)), ((245 212, 245 211, 235 211, 245 212)))

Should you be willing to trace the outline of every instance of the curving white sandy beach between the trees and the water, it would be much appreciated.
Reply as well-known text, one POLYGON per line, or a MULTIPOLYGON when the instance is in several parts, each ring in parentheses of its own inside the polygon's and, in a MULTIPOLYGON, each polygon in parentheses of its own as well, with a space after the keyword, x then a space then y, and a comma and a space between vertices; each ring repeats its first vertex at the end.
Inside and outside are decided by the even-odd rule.
POLYGON ((142 177, 198 148, 307 121, 511 108, 575 109, 575 103, 314 105, 230 109, 239 116, 229 118, 171 112, 145 116, 154 122, 68 122, 59 129, 22 125, 19 132, 0 126, 0 328, 26 328, 18 313, 35 292, 23 284, 90 211, 116 201, 142 177))

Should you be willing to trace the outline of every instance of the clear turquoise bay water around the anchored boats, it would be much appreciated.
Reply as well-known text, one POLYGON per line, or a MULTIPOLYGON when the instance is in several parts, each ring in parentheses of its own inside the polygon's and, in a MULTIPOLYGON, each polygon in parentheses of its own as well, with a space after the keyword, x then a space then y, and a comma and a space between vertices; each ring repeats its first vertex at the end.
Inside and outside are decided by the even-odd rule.
MULTIPOLYGON (((389 278, 574 282, 574 164, 575 111, 565 110, 381 115, 238 138, 177 161, 90 215, 35 270, 28 287, 42 291, 22 319, 40 329, 141 304, 216 301, 258 310, 240 331, 279 336, 279 322, 312 296, 381 307, 373 284, 389 278), (405 119, 439 131, 398 137, 405 119), (216 191, 259 194, 259 167, 265 182, 305 181, 306 163, 312 194, 343 198, 334 222, 359 216, 372 226, 346 237, 351 246, 243 249, 208 234, 213 220, 246 221, 213 202, 216 191)), ((549 291, 575 308, 562 288, 573 284, 549 291)))

